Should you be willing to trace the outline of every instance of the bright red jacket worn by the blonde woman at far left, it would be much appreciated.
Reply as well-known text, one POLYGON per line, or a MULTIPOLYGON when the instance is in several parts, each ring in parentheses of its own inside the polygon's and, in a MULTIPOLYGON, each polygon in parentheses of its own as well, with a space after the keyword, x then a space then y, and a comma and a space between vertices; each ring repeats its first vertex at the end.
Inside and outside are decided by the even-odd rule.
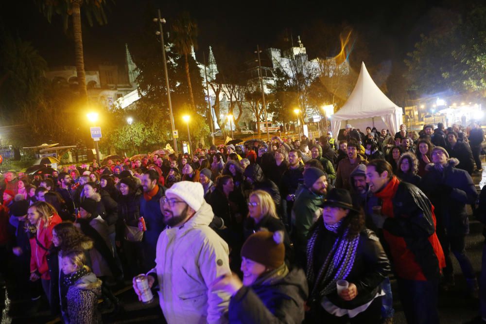
POLYGON ((46 256, 52 244, 52 229, 60 222, 62 222, 62 220, 57 214, 54 214, 49 219, 49 226, 47 226, 47 228, 44 227, 43 220, 39 221, 39 226, 35 235, 37 236, 39 243, 42 244, 45 249, 39 246, 35 237, 29 240, 31 245, 31 273, 38 271, 41 274, 41 279, 51 279, 46 256))

